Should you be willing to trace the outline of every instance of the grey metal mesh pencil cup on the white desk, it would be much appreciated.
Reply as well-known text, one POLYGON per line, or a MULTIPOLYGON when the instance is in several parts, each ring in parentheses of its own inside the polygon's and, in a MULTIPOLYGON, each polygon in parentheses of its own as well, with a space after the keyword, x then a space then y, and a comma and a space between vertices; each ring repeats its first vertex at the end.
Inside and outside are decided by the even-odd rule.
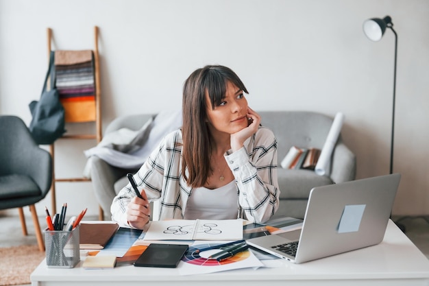
POLYGON ((48 267, 75 267, 80 261, 79 226, 71 231, 45 230, 45 246, 48 267))

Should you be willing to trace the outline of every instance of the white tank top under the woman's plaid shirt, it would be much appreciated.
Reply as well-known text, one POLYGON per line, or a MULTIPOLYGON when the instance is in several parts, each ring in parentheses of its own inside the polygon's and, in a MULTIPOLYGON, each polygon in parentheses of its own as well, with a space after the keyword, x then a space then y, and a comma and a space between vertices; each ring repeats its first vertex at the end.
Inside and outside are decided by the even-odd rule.
POLYGON ((238 196, 235 181, 218 189, 193 189, 186 203, 184 219, 236 219, 238 196))

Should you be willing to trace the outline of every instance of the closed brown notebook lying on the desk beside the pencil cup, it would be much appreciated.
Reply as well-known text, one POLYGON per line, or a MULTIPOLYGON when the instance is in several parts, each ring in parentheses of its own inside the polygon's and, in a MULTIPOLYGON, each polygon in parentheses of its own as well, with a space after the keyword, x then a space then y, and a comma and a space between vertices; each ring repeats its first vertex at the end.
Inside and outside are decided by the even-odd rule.
POLYGON ((94 223, 79 226, 80 249, 103 249, 119 229, 117 223, 94 223))

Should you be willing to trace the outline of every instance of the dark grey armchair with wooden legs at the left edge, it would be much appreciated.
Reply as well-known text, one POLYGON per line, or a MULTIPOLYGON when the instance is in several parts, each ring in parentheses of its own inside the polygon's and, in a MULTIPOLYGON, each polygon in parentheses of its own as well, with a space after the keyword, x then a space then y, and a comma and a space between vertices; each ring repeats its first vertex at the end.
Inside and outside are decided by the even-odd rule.
POLYGON ((27 235, 23 207, 32 213, 40 251, 45 251, 34 204, 47 195, 52 182, 51 154, 42 150, 25 123, 15 116, 0 116, 0 210, 19 208, 23 234, 27 235))

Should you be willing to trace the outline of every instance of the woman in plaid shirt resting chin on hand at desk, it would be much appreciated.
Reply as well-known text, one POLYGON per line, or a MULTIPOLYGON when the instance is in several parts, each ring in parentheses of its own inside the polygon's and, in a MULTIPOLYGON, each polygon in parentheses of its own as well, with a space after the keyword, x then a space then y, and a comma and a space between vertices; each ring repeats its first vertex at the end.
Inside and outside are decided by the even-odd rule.
POLYGON ((149 202, 160 219, 267 221, 278 208, 277 141, 247 106, 231 69, 206 66, 183 88, 183 126, 168 134, 112 202, 112 219, 143 228, 149 202))

